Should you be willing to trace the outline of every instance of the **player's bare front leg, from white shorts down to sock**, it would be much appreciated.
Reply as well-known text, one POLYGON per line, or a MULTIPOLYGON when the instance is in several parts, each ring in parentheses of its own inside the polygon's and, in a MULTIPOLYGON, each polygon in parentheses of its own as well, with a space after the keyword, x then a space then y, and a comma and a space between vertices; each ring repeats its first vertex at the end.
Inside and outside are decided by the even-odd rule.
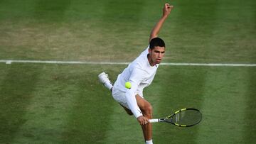
MULTIPOLYGON (((143 116, 146 118, 153 118, 153 110, 151 104, 146 101, 146 99, 143 99, 138 94, 136 95, 137 104, 139 106, 139 109, 141 109, 143 116)), ((152 140, 152 125, 151 123, 147 123, 146 125, 142 126, 142 131, 144 134, 144 139, 146 141, 152 140)))

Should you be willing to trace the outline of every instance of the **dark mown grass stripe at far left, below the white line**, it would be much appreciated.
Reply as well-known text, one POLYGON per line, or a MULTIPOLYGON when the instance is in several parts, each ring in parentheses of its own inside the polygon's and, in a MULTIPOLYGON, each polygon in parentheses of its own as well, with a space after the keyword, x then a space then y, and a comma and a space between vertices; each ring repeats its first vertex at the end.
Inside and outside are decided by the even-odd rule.
POLYGON ((26 123, 23 115, 33 97, 40 70, 26 65, 6 65, 7 74, 0 87, 0 143, 10 143, 26 123))

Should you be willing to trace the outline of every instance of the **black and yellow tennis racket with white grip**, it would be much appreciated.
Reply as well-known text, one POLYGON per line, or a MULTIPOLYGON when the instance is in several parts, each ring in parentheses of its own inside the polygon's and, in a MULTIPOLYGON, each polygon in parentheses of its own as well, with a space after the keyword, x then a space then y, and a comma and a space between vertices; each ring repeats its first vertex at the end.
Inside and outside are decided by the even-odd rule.
POLYGON ((188 127, 195 126, 202 120, 202 113, 198 109, 180 109, 171 116, 159 119, 149 119, 150 123, 166 122, 175 126, 188 127))

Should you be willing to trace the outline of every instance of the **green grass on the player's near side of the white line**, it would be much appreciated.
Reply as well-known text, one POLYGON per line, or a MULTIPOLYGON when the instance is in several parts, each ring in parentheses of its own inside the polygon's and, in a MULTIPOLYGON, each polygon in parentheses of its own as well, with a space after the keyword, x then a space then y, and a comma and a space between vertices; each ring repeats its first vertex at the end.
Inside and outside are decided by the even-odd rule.
MULTIPOLYGON (((124 66, 0 67, 2 143, 142 143, 135 119, 97 82, 101 70, 115 77, 124 66)), ((188 106, 201 109, 203 121, 193 128, 154 124, 155 142, 252 143, 255 78, 252 67, 160 67, 145 91, 154 116, 188 106)))

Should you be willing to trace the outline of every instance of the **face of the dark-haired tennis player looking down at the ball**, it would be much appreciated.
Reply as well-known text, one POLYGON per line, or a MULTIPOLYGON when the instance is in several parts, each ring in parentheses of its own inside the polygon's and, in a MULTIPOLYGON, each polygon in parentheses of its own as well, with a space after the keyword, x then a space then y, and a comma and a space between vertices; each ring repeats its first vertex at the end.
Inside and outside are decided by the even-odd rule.
POLYGON ((155 47, 153 50, 149 48, 149 63, 151 66, 159 64, 164 57, 165 48, 155 47))

